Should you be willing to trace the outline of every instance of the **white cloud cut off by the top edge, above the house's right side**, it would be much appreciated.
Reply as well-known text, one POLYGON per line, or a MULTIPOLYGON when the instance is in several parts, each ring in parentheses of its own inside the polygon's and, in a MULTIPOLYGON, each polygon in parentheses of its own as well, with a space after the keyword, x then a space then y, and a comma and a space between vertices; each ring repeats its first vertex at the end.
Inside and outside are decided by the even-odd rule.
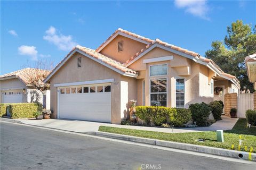
POLYGON ((188 13, 199 16, 205 20, 210 20, 210 18, 207 17, 209 6, 206 0, 175 0, 174 4, 178 8, 185 8, 185 11, 188 13))

